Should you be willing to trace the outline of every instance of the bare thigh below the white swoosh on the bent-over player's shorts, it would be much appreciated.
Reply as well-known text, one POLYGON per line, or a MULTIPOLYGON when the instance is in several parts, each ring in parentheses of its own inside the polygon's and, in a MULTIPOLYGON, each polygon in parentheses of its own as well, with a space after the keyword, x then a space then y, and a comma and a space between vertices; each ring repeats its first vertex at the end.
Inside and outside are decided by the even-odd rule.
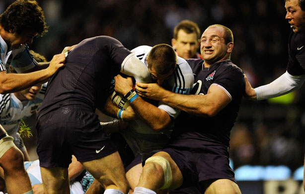
POLYGON ((118 152, 114 152, 108 156, 81 162, 85 169, 97 179, 104 188, 116 183, 127 183, 125 170, 121 157, 118 152))

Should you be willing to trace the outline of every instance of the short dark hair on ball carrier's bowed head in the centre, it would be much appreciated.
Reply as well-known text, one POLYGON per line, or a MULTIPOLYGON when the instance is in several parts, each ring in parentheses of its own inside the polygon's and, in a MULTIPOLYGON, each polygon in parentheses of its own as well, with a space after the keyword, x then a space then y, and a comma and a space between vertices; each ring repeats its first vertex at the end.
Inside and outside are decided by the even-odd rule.
POLYGON ((168 44, 155 45, 148 55, 148 67, 159 74, 168 74, 176 67, 177 55, 175 50, 168 44))

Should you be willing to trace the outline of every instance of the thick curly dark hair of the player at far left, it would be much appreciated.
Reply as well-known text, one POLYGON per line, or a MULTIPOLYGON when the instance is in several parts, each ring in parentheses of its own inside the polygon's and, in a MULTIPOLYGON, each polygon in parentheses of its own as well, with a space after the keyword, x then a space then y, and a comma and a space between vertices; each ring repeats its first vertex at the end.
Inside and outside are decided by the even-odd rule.
POLYGON ((34 30, 43 36, 48 30, 42 8, 35 0, 16 0, 0 15, 0 24, 7 32, 21 34, 34 30))

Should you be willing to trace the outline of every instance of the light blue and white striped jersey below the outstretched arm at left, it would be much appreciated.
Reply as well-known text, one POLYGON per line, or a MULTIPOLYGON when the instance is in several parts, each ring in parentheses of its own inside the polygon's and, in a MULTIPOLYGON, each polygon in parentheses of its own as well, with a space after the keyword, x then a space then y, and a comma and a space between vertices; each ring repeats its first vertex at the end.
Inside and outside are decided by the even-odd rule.
POLYGON ((18 136, 21 119, 30 117, 38 110, 45 96, 46 87, 47 83, 43 84, 41 91, 33 100, 20 101, 13 93, 0 94, 0 124, 8 135, 18 136))

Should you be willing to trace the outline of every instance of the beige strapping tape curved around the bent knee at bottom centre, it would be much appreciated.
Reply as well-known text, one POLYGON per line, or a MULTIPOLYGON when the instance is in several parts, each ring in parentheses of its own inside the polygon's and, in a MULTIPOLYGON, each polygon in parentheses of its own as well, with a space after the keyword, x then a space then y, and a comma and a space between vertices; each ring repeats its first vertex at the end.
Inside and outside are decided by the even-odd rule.
POLYGON ((146 160, 145 164, 150 162, 155 162, 162 167, 164 172, 164 185, 160 188, 160 190, 168 189, 172 182, 172 174, 171 174, 169 162, 165 158, 160 156, 150 157, 149 159, 146 160))

